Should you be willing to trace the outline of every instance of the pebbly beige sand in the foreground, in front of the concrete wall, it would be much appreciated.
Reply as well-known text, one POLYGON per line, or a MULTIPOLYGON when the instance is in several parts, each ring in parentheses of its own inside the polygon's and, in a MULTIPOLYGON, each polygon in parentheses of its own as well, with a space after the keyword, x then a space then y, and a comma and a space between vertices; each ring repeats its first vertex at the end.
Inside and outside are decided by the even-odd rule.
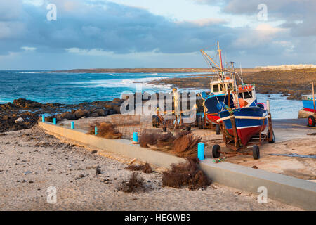
POLYGON ((220 184, 199 191, 162 187, 161 168, 140 174, 145 193, 124 193, 117 187, 131 174, 124 169, 127 159, 91 150, 37 126, 1 135, 0 210, 301 210, 270 199, 259 204, 256 195, 220 184), (57 189, 55 204, 46 201, 50 186, 57 189))

